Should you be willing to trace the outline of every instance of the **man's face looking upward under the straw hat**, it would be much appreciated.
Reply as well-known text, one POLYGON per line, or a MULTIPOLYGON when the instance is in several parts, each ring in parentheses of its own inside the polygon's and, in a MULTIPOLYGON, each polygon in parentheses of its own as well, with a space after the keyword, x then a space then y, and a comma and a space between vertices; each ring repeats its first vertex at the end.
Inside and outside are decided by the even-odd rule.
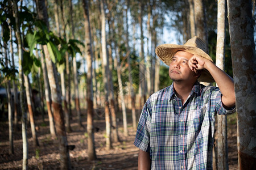
POLYGON ((188 61, 192 56, 193 54, 188 52, 176 52, 172 58, 172 62, 170 63, 169 68, 169 76, 174 82, 194 82, 197 79, 195 72, 192 71, 188 66, 188 61))

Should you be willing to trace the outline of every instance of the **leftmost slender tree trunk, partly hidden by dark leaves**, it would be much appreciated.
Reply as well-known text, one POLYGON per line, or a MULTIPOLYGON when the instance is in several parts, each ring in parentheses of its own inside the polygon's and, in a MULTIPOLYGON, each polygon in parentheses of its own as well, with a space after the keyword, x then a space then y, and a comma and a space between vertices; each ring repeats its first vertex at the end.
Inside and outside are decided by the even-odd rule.
MULTIPOLYGON (((2 27, 2 31, 3 31, 2 27)), ((5 63, 6 67, 9 67, 9 59, 7 57, 7 44, 3 42, 3 48, 5 49, 5 63)), ((10 80, 6 82, 6 91, 7 91, 7 101, 8 101, 8 122, 9 122, 9 154, 14 154, 13 149, 13 108, 12 108, 12 99, 11 99, 11 83, 10 80)))

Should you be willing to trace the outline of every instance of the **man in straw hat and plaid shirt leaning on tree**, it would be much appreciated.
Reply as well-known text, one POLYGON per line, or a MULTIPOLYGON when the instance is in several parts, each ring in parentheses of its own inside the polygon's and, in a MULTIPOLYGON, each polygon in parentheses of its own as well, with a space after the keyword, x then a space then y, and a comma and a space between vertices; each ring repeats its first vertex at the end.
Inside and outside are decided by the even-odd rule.
POLYGON ((197 36, 184 45, 156 48, 173 83, 143 107, 134 142, 138 169, 212 169, 214 115, 235 112, 236 101, 233 79, 206 49, 197 36), (219 88, 198 81, 215 81, 219 88))

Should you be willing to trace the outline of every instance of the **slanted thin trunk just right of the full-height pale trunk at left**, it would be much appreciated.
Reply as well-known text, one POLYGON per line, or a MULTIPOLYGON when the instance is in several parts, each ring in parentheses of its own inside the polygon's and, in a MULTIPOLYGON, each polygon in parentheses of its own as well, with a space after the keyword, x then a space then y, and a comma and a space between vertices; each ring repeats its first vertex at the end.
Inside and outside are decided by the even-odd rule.
POLYGON ((36 146, 39 146, 39 143, 38 143, 38 137, 35 129, 35 118, 34 118, 34 112, 32 109, 31 90, 30 90, 30 84, 29 84, 27 75, 24 75, 24 85, 26 88, 28 113, 30 114, 30 127, 31 127, 32 139, 33 139, 33 145, 36 148, 36 146))

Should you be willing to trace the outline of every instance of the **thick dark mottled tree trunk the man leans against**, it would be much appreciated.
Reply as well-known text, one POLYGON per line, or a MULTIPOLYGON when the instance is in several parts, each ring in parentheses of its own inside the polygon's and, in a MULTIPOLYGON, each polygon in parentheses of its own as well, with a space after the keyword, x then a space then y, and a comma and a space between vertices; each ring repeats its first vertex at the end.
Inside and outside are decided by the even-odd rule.
POLYGON ((256 169, 256 70, 251 2, 228 0, 229 33, 237 108, 239 169, 256 169))

